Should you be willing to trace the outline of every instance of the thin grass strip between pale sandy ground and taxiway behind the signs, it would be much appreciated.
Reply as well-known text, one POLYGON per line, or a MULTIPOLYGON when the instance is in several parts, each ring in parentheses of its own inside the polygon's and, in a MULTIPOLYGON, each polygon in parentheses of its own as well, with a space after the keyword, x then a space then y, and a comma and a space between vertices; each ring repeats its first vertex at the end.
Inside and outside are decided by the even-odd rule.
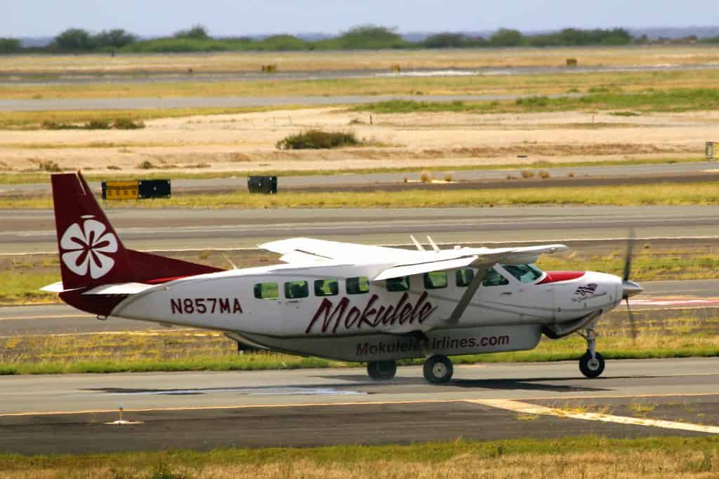
MULTIPOLYGON (((451 167, 442 167, 441 170, 451 169, 452 171, 464 170, 498 170, 498 169, 531 169, 531 168, 561 168, 561 167, 613 167, 626 166, 635 164, 674 164, 674 163, 694 163, 705 161, 703 158, 641 158, 641 159, 618 159, 618 160, 600 160, 597 162, 532 162, 532 163, 503 163, 503 164, 459 164, 451 167)), ((167 179, 172 177, 174 180, 206 180, 209 178, 228 178, 228 177, 245 177, 252 175, 274 175, 277 177, 288 176, 334 176, 353 173, 356 175, 369 175, 372 173, 419 173, 416 167, 377 167, 377 168, 356 168, 356 169, 268 169, 258 171, 243 172, 143 172, 142 178, 147 180, 167 179)), ((550 170, 551 172, 551 170, 550 170)), ((88 181, 105 181, 105 180, 121 180, 127 177, 134 180, 137 175, 129 175, 122 172, 107 173, 98 175, 84 172, 83 176, 88 181)), ((281 181, 281 180, 280 180, 281 181)), ((0 172, 0 185, 22 185, 28 183, 50 183, 50 175, 46 172, 22 172, 22 173, 2 173, 0 172)), ((281 186, 281 185, 280 185, 281 186)))

